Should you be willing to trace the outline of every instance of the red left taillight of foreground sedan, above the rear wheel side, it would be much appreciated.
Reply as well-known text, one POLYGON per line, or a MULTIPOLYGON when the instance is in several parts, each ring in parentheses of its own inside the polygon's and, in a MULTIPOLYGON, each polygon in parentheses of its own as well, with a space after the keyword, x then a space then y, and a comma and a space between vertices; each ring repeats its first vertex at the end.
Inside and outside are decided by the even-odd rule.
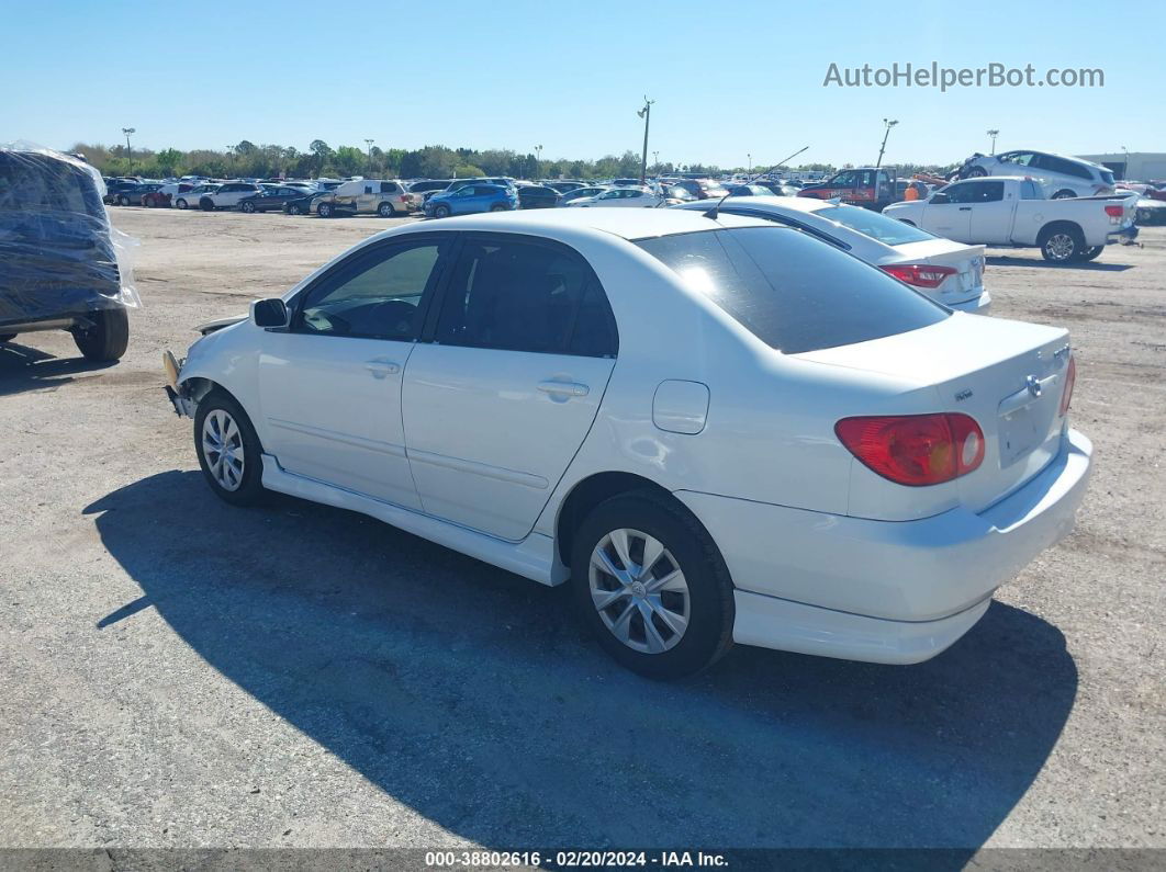
POLYGON ((940 484, 984 460, 984 432, 967 414, 843 418, 834 432, 866 467, 898 484, 940 484))

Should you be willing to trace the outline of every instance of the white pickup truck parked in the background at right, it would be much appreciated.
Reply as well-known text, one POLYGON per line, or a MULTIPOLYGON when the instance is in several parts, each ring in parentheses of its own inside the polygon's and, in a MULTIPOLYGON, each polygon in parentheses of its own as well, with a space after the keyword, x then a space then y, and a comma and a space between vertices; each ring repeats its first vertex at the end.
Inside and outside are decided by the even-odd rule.
POLYGON ((894 203, 883 214, 968 242, 1039 248, 1046 261, 1091 261, 1110 242, 1132 240, 1137 197, 1107 194, 1049 200, 1040 183, 1019 176, 970 178, 926 200, 894 203))

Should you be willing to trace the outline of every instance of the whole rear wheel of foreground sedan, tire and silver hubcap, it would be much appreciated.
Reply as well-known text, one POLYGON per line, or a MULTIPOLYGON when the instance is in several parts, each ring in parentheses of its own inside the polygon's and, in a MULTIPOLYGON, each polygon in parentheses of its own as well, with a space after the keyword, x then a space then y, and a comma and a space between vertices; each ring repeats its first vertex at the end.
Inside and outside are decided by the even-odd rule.
POLYGON ((580 617, 623 666, 679 679, 731 646, 729 570, 682 506, 647 491, 612 497, 584 519, 573 551, 580 617))

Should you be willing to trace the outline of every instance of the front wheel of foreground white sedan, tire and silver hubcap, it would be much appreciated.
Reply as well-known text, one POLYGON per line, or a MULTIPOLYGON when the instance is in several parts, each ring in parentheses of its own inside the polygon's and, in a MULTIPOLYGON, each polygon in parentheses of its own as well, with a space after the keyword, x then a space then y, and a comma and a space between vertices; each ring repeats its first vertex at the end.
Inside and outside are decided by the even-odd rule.
POLYGON ((265 495, 262 448, 234 397, 212 390, 195 412, 195 451, 206 483, 220 499, 253 505, 265 495))

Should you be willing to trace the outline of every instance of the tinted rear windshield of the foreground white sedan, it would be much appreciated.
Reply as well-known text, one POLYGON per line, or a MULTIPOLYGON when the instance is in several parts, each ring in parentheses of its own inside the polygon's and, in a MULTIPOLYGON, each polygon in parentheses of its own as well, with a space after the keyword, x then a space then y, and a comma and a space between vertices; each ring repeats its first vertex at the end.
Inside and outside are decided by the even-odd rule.
POLYGON ((950 316, 877 268, 791 228, 702 231, 635 244, 785 354, 906 333, 950 316))

